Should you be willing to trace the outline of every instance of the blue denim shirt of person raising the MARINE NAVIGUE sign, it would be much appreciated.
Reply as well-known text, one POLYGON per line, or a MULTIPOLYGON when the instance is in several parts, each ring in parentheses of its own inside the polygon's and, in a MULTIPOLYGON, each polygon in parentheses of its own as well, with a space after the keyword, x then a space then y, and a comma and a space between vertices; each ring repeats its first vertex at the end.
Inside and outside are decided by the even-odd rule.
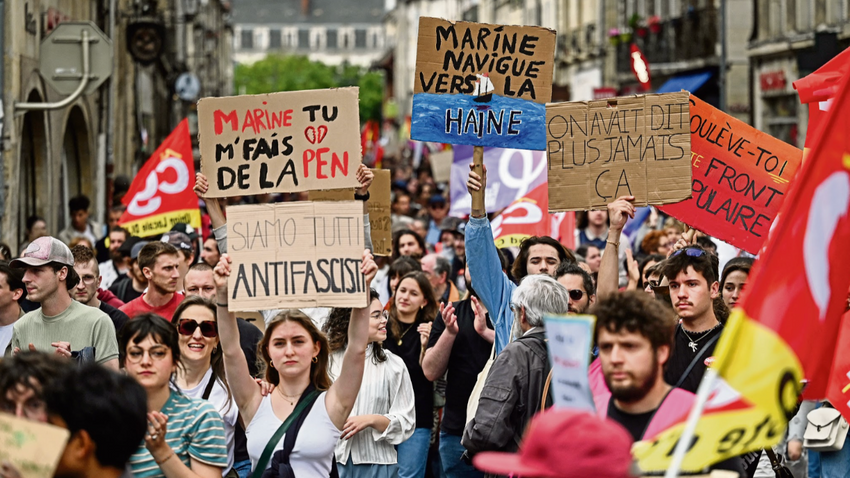
POLYGON ((493 231, 486 217, 470 217, 466 225, 466 265, 472 287, 493 321, 496 330, 496 353, 502 351, 511 340, 514 313, 511 311, 511 296, 516 284, 502 272, 502 262, 493 242, 493 231))

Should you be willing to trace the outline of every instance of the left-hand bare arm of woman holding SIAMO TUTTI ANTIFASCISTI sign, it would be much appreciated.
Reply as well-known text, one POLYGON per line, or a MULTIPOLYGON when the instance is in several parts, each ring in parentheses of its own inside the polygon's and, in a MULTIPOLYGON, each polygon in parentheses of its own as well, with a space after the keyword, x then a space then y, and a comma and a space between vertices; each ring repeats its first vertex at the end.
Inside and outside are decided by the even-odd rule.
POLYGON ((230 256, 222 254, 215 266, 216 308, 218 309, 218 336, 224 353, 224 372, 233 392, 236 406, 244 423, 250 423, 260 407, 260 387, 251 377, 248 360, 239 345, 239 327, 236 316, 227 309, 227 278, 230 276, 230 256))

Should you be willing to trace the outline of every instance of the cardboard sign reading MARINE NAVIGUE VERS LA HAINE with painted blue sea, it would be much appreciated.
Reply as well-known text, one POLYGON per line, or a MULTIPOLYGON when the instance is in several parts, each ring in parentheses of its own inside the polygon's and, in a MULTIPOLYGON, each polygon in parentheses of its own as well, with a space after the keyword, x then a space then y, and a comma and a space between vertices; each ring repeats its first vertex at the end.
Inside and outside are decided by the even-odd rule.
POLYGON ((546 148, 555 32, 419 18, 410 137, 546 148))

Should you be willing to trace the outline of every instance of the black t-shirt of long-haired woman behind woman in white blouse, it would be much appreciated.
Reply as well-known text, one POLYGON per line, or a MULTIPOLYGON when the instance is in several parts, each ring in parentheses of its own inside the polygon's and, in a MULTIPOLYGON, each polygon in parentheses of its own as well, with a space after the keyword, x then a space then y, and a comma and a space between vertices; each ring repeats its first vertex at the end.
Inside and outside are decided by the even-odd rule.
POLYGON ((407 367, 410 382, 413 384, 413 396, 416 399, 416 428, 434 427, 434 384, 425 378, 425 372, 419 365, 419 354, 422 352, 422 342, 416 328, 418 322, 401 325, 401 345, 398 337, 393 335, 392 327, 387 326, 387 340, 384 348, 398 355, 407 367), (408 329, 408 327, 410 327, 408 329))

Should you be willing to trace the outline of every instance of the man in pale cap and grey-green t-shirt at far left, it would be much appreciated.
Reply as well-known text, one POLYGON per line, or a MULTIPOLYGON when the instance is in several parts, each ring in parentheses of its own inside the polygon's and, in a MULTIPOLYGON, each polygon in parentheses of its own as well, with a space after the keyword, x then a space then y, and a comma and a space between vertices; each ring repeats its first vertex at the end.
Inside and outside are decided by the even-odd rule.
POLYGON ((91 347, 95 362, 118 369, 118 341, 109 316, 71 298, 80 278, 68 246, 40 237, 10 265, 25 269, 27 298, 41 307, 15 322, 7 355, 29 349, 71 357, 72 352, 91 347))

